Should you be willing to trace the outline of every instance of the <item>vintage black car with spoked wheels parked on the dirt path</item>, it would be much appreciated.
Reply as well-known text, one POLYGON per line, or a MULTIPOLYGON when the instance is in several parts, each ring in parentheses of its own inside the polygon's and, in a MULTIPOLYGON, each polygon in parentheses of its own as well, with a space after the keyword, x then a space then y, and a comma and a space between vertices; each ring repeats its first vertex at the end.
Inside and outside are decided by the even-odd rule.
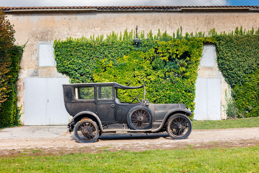
POLYGON ((94 142, 105 132, 165 132, 173 139, 187 138, 191 133, 190 109, 185 104, 152 104, 145 99, 145 86, 123 86, 116 82, 63 84, 64 103, 73 116, 68 123, 81 143, 94 142), (118 89, 143 88, 131 102, 117 98, 118 89), (138 103, 132 103, 137 100, 138 103))

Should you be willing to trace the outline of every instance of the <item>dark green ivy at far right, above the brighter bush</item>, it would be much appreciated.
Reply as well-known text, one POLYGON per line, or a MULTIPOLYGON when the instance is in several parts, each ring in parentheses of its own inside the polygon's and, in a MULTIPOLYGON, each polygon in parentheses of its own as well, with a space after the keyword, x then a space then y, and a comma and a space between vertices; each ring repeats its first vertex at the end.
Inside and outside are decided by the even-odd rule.
POLYGON ((237 34, 217 36, 218 67, 231 88, 242 85, 259 65, 259 35, 237 34))

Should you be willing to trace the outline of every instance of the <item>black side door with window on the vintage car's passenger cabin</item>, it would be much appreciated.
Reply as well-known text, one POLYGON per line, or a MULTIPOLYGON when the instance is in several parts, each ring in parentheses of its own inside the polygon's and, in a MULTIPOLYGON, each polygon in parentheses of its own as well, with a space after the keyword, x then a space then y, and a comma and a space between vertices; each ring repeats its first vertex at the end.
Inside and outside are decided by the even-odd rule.
POLYGON ((102 123, 115 122, 114 91, 112 85, 97 85, 97 116, 102 123))

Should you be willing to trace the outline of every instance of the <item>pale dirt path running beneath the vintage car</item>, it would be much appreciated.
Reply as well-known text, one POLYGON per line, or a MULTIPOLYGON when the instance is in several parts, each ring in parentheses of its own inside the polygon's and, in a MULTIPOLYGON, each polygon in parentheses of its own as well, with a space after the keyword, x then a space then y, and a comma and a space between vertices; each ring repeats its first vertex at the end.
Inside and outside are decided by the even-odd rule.
POLYGON ((1 139, 0 156, 256 145, 259 145, 259 128, 193 130, 182 140, 173 140, 167 133, 103 133, 96 142, 88 144, 78 143, 73 133, 65 132, 59 137, 1 139))

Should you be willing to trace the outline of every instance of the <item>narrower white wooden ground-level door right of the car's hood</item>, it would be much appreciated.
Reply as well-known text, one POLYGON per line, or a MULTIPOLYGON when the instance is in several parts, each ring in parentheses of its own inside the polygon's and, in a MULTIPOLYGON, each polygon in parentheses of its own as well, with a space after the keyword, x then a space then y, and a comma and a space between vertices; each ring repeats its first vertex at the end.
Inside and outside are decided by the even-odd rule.
POLYGON ((197 78, 195 120, 220 120, 220 78, 197 78))

